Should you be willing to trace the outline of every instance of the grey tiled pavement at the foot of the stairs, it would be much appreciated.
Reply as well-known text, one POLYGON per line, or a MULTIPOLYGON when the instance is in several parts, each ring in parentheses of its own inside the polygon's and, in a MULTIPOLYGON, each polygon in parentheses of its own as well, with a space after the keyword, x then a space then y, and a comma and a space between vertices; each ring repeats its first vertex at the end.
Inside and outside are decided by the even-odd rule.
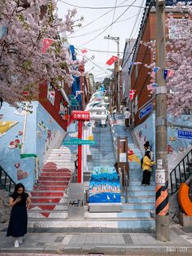
MULTIPOLYGON (((64 230, 63 230, 64 231, 64 230)), ((155 240, 155 233, 62 232, 62 228, 28 229, 24 243, 14 248, 13 238, 0 231, 0 255, 95 254, 95 255, 191 255, 192 228, 170 225, 170 241, 155 240)), ((15 255, 16 256, 16 255, 15 255)))

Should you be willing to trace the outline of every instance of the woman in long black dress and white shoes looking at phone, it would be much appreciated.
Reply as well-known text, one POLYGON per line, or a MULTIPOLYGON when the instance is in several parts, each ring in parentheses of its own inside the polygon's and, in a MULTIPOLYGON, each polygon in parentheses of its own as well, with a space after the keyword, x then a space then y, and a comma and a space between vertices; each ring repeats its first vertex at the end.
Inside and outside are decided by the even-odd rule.
POLYGON ((9 204, 12 209, 7 236, 15 237, 15 247, 19 247, 23 242, 22 236, 27 233, 27 209, 31 204, 31 199, 28 193, 24 192, 24 185, 22 183, 15 185, 15 191, 11 194, 9 204))

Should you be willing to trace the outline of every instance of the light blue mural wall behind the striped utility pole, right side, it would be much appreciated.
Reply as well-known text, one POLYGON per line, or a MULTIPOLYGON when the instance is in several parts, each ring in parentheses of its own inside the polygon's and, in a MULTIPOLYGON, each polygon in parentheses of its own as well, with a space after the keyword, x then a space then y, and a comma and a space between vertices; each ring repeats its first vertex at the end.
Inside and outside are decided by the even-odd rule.
MULTIPOLYGON (((179 117, 168 115, 168 122, 170 123, 168 126, 168 170, 171 171, 192 148, 192 115, 179 117), (182 137, 187 137, 186 139, 179 138, 180 131, 183 134, 182 137)), ((155 113, 152 113, 146 121, 137 126, 133 130, 133 134, 143 153, 143 144, 148 140, 155 155, 155 113)))

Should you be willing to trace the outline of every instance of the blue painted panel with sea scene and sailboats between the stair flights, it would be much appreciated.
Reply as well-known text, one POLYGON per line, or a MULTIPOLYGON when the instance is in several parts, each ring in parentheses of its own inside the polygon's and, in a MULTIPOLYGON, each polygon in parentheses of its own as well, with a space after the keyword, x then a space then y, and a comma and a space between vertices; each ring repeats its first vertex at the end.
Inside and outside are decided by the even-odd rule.
POLYGON ((89 182, 89 203, 120 203, 120 180, 114 167, 94 167, 89 182))

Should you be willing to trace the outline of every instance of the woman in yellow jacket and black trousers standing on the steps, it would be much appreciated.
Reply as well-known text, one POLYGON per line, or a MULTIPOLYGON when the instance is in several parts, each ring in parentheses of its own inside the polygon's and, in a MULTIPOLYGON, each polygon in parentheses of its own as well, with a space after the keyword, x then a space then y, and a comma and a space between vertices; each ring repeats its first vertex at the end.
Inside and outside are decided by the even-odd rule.
POLYGON ((151 166, 155 165, 155 161, 151 161, 151 154, 150 151, 146 151, 145 157, 143 157, 142 162, 142 185, 149 186, 150 179, 151 179, 151 166))

